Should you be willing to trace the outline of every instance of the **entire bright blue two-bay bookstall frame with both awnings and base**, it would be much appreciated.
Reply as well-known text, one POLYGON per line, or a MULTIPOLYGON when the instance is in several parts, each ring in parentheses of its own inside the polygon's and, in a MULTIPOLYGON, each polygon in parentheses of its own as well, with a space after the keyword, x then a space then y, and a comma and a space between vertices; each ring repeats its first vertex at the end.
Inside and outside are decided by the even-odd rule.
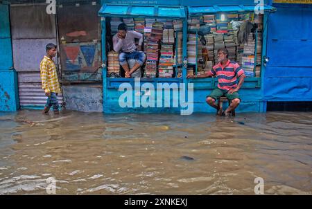
MULTIPOLYGON (((139 3, 138 1, 136 3, 139 3)), ((153 5, 142 1, 142 6, 136 6, 131 1, 103 1, 103 7, 101 8, 99 15, 102 16, 102 43, 103 43, 103 61, 107 62, 106 57, 106 23, 107 17, 157 17, 161 11, 162 5, 166 4, 166 1, 153 1, 153 5), (125 5, 128 3, 128 5, 125 5), (145 6, 144 6, 145 4, 145 6), (160 8, 160 10, 159 10, 160 8)), ((172 4, 172 2, 171 2, 172 4)), ((207 14, 229 14, 229 13, 243 13, 254 12, 257 8, 257 3, 254 1, 175 1, 172 8, 174 10, 183 11, 182 8, 188 11, 189 17, 199 17, 207 14), (178 6, 180 5, 180 6, 178 6)), ((172 6, 172 5, 171 5, 172 6)), ((168 7, 168 6, 166 6, 168 7)), ((263 5, 263 47, 261 51, 261 57, 266 57, 266 37, 267 37, 267 24, 268 13, 274 10, 272 6, 263 5)), ((205 102, 206 96, 209 95, 212 89, 216 88, 218 80, 216 78, 196 78, 187 79, 187 17, 185 15, 173 15, 179 12, 166 12, 164 17, 173 19, 183 19, 183 75, 182 78, 141 78, 143 82, 150 82, 153 87, 156 87, 157 82, 172 83, 184 83, 193 84, 193 111, 194 112, 215 112, 205 102)), ((181 14, 183 12, 180 12, 181 14)), ((256 53, 257 54, 257 53, 256 53)), ((261 75, 259 78, 246 78, 245 83, 240 91, 242 102, 237 111, 266 111, 266 101, 263 100, 263 75, 265 66, 263 59, 257 63, 257 66, 261 66, 261 75)), ((103 111, 105 113, 117 113, 117 112, 175 112, 179 111, 180 107, 173 108, 143 108, 143 107, 120 107, 119 98, 122 92, 118 89, 120 84, 128 82, 132 89, 135 89, 135 80, 133 78, 106 78, 106 69, 103 71, 103 111)), ((140 84, 141 87, 141 84, 140 84)), ((138 93, 138 92, 137 92, 138 93)), ((188 92, 185 92, 187 95, 188 92)), ((135 91, 132 92, 135 97, 135 91)), ((172 94, 170 94, 172 96, 172 94)), ((172 98, 172 97, 171 97, 172 98)), ((138 98, 140 99, 140 98, 138 98)), ((177 98, 178 99, 178 98, 177 98)), ((157 98, 156 98, 157 100, 157 98)), ((172 102, 172 100, 171 100, 172 102)))

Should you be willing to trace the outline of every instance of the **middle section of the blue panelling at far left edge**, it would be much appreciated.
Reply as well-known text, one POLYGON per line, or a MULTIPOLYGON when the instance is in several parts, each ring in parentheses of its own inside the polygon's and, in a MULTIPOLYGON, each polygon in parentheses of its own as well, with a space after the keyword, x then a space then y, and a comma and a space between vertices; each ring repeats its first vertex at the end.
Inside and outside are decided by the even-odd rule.
POLYGON ((8 70, 13 66, 12 46, 10 38, 0 38, 0 70, 8 70))

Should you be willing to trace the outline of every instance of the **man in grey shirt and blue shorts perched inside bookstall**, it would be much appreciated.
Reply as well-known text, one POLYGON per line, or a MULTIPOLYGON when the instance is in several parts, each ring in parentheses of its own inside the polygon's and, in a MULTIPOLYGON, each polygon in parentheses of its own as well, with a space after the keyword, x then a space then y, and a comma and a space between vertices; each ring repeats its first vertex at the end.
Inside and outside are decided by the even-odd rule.
POLYGON ((119 54, 119 62, 125 71, 125 78, 141 78, 140 67, 144 64, 146 55, 141 51, 143 35, 136 31, 128 31, 127 25, 118 26, 118 33, 113 37, 114 51, 119 54), (135 38, 139 39, 139 46, 135 46, 135 38), (135 65, 129 68, 128 60, 135 60, 135 65))

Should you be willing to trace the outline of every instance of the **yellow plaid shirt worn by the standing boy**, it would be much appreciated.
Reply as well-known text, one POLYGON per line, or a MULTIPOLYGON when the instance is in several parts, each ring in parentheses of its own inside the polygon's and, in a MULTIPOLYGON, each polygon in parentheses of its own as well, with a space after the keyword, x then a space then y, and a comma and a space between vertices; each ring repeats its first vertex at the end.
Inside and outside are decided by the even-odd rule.
POLYGON ((42 81, 42 89, 46 93, 60 93, 60 83, 58 82, 58 73, 56 66, 49 57, 44 56, 40 62, 40 77, 42 81))

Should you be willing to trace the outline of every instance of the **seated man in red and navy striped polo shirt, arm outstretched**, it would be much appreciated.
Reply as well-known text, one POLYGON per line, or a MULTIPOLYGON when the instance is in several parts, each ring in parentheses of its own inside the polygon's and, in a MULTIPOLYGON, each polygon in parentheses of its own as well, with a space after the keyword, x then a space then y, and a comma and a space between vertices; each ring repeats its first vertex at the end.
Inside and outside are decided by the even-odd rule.
POLYGON ((229 51, 226 48, 220 48, 218 50, 218 64, 211 71, 203 75, 188 76, 188 78, 207 78, 214 75, 218 77, 218 87, 207 96, 206 102, 218 110, 219 116, 229 116, 229 113, 239 106, 241 98, 238 91, 241 89, 245 80, 245 73, 241 66, 236 62, 228 60, 228 57, 229 51), (236 77, 239 77, 239 84, 236 83, 236 77), (218 109, 218 105, 216 104, 216 100, 222 96, 225 96, 231 102, 225 111, 218 109))

